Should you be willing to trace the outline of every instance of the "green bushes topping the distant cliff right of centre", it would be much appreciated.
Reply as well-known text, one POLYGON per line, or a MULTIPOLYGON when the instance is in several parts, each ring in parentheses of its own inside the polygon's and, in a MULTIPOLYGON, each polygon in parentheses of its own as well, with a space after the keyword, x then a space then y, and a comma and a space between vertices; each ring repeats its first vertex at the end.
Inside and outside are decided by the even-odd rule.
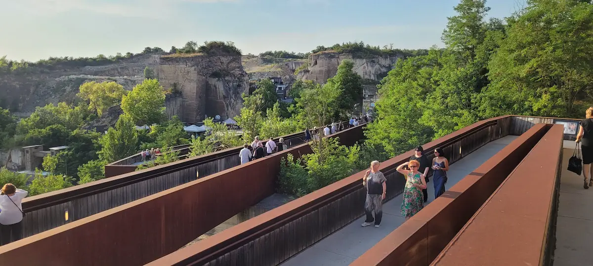
POLYGON ((317 48, 311 51, 311 54, 321 54, 321 53, 347 53, 352 54, 352 57, 355 58, 369 58, 369 57, 376 57, 376 56, 420 56, 423 54, 428 54, 428 50, 426 49, 418 49, 418 50, 407 50, 407 49, 394 49, 393 44, 389 46, 371 46, 369 44, 365 44, 363 41, 356 43, 356 42, 348 42, 342 44, 334 44, 330 47, 325 46, 317 46, 317 48))

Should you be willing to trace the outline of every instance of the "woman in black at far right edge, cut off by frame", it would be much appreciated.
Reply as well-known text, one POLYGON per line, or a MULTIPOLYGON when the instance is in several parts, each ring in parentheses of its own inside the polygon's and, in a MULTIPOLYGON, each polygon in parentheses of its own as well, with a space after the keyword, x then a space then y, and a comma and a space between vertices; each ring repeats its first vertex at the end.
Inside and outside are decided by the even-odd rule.
POLYGON ((583 151, 583 176, 585 176, 583 187, 588 189, 593 186, 593 179, 591 179, 591 163, 593 163, 593 107, 587 109, 585 117, 581 121, 581 126, 579 126, 579 133, 576 134, 576 143, 581 142, 581 150, 583 151), (589 179, 588 185, 587 179, 589 179))

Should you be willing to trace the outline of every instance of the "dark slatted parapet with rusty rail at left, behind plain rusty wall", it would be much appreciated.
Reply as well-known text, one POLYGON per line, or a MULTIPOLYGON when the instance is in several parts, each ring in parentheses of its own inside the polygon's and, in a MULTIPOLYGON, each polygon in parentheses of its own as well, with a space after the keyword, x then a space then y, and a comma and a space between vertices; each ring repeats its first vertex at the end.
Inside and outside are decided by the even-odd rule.
MULTIPOLYGON (((340 143, 352 145, 364 137, 365 127, 366 124, 359 125, 337 132, 330 137, 339 137, 340 143)), ((288 135, 285 140, 290 139, 292 145, 302 144, 303 141, 298 136, 298 134, 288 135)), ((23 208, 27 213, 23 220, 24 236, 35 235, 196 180, 196 171, 199 171, 201 179, 238 166, 240 164, 238 151, 238 148, 231 148, 68 189, 27 197, 23 200, 23 208), (66 211, 68 220, 65 219, 66 211)))

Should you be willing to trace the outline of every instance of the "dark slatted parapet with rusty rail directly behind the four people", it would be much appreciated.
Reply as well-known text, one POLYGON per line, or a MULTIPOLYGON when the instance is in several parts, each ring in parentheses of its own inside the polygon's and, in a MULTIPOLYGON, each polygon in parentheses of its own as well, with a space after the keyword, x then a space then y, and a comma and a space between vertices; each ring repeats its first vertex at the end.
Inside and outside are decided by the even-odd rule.
MULTIPOLYGON (((443 147, 454 163, 508 135, 510 121, 509 116, 480 121, 423 148, 443 147)), ((412 154, 408 151, 381 164, 387 177, 387 199, 403 191, 404 178, 395 169, 412 154)), ((148 265, 278 265, 363 214, 363 174, 346 177, 148 265)))

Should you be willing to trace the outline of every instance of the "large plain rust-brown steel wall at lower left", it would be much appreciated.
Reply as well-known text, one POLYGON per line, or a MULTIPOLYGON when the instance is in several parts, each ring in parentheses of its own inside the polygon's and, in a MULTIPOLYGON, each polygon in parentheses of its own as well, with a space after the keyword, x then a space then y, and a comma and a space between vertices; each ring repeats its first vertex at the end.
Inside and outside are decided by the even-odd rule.
MULTIPOLYGON (((333 136, 349 134, 362 138, 364 132, 358 126, 333 136)), ((19 258, 22 265, 60 266, 148 263, 273 194, 280 158, 310 152, 308 144, 301 144, 0 246, 0 261, 19 258)))

